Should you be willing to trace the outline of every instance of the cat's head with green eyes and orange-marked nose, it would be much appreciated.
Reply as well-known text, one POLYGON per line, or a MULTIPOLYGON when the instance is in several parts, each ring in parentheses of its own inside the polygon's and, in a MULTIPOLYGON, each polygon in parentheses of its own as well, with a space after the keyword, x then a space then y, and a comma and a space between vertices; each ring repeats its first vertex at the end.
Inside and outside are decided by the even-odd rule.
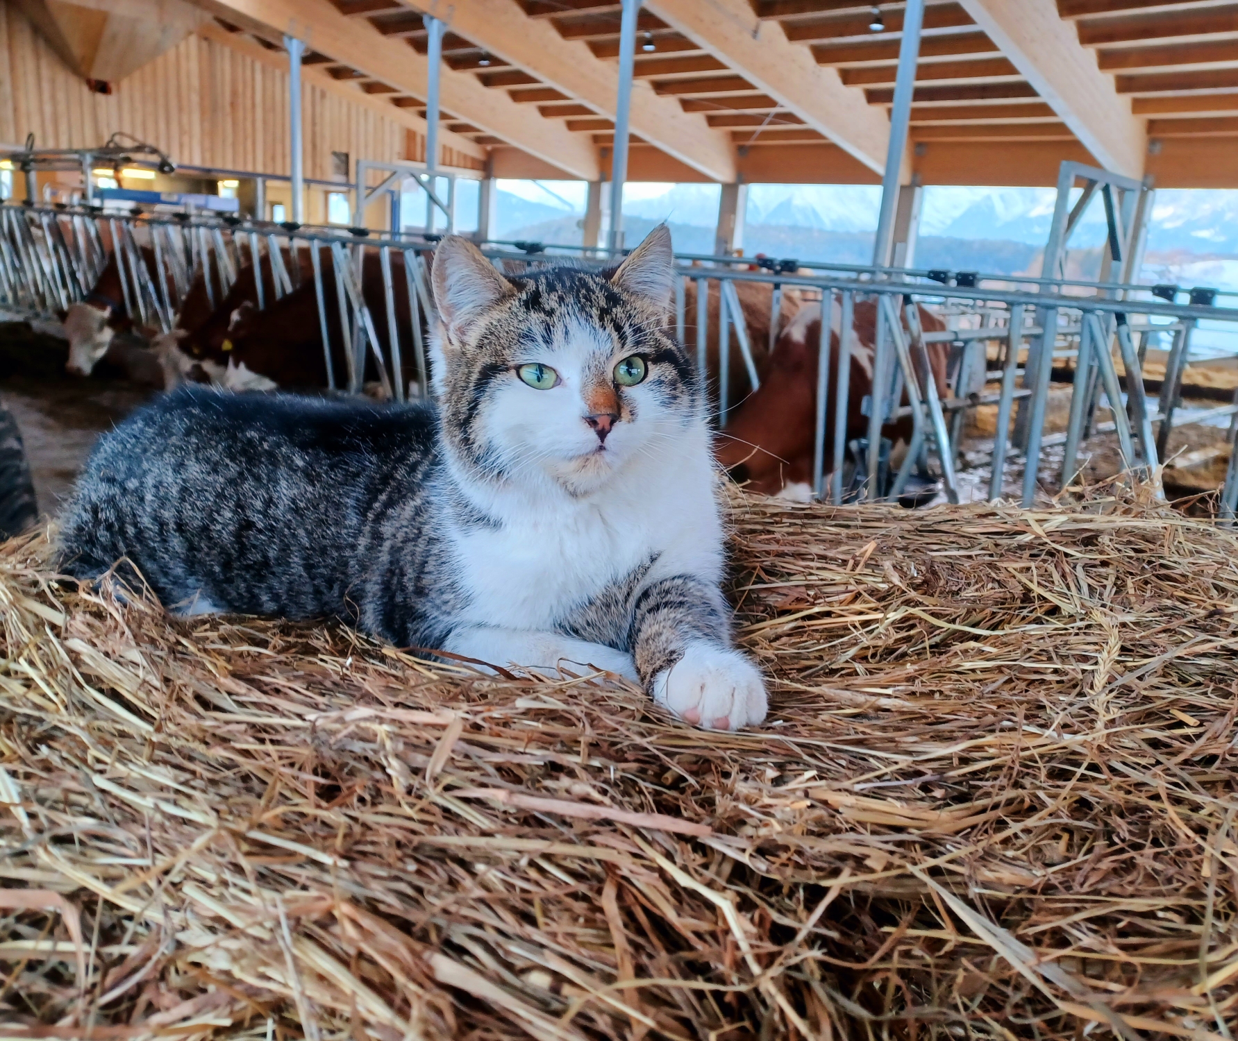
POLYGON ((603 488, 699 417, 696 371, 666 334, 671 235, 618 267, 505 277, 467 239, 435 253, 433 384, 453 458, 482 480, 603 488))

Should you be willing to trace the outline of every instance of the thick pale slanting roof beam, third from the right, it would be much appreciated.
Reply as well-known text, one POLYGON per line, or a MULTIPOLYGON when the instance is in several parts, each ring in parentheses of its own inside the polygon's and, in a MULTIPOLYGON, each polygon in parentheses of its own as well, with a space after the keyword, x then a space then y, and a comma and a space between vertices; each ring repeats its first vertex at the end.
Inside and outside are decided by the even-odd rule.
MULTIPOLYGON (((427 12, 438 10, 433 0, 404 0, 427 12)), ((615 115, 615 67, 598 58, 586 43, 565 40, 545 20, 531 19, 513 0, 456 0, 442 14, 459 36, 498 54, 509 64, 535 76, 539 82, 594 110, 615 115)), ((520 92, 521 100, 551 102, 555 98, 520 92)), ((631 132, 656 145, 680 162, 714 181, 735 177, 734 150, 724 134, 701 116, 683 111, 672 98, 661 98, 646 84, 633 84, 631 132)))

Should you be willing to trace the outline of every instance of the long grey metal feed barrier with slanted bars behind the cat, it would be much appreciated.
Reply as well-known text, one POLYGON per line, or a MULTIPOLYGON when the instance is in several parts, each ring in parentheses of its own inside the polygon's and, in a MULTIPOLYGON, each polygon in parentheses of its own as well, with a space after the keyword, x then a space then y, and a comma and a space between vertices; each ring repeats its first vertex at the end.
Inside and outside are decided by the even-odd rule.
MULTIPOLYGON (((300 285, 302 250, 311 260, 318 324, 323 340, 327 379, 332 390, 359 392, 365 361, 373 356, 380 381, 396 400, 413 380, 426 392, 427 316, 433 312, 428 287, 427 255, 437 236, 422 234, 370 234, 363 229, 311 228, 239 219, 173 215, 114 215, 93 208, 43 208, 0 205, 0 308, 31 318, 53 318, 74 301, 82 301, 108 262, 110 249, 120 261, 125 306, 150 329, 168 330, 196 279, 202 279, 212 306, 228 295, 244 264, 262 255, 272 271, 274 298, 300 285), (155 275, 142 261, 150 249, 155 275), (326 282, 323 251, 331 255, 334 285, 326 282), (365 257, 376 253, 381 270, 381 300, 366 300, 361 271, 365 257), (402 285, 394 277, 394 254, 402 260, 402 285), (287 255, 292 262, 285 262, 287 255), (405 296, 410 322, 399 326, 397 296, 405 296), (375 332, 371 308, 381 307, 387 329, 384 345, 375 332), (340 387, 332 364, 332 333, 328 308, 338 316, 347 359, 347 379, 340 387), (404 350, 412 348, 411 379, 406 384, 404 350)), ((574 255, 577 262, 603 266, 612 262, 607 250, 542 246, 536 243, 485 243, 483 251, 508 274, 529 266, 562 262, 574 255)), ((1238 353, 1238 309, 1211 305, 1202 291, 1192 303, 1177 305, 1169 290, 1176 287, 1133 286, 1117 282, 1082 282, 1065 279, 984 276, 976 272, 879 269, 864 265, 799 264, 753 261, 734 257, 677 255, 683 277, 675 298, 675 327, 683 339, 687 316, 687 280, 696 282, 696 358, 704 370, 708 337, 708 290, 718 286, 719 379, 713 400, 719 426, 728 420, 733 399, 729 386, 732 338, 751 389, 759 384, 754 345, 743 321, 737 285, 761 282, 771 291, 771 340, 777 327, 781 298, 797 291, 805 306, 821 308, 821 356, 818 365, 817 416, 813 460, 813 491, 834 503, 851 499, 886 499, 901 494, 911 473, 932 462, 947 496, 958 499, 956 460, 966 410, 997 405, 998 420, 992 452, 989 496, 999 498, 1006 470, 1024 465, 1021 498, 1030 505, 1037 472, 1049 448, 1062 447, 1062 486, 1078 475, 1082 443, 1094 432, 1114 431, 1123 467, 1130 472, 1156 474, 1174 427, 1216 422, 1229 417, 1229 441, 1238 431, 1238 401, 1208 410, 1184 410, 1181 378, 1190 359, 1191 338, 1201 321, 1222 323, 1238 353), (851 358, 857 350, 852 316, 860 300, 877 302, 873 349, 873 392, 863 402, 868 417, 867 446, 848 460, 847 412, 851 387, 851 358), (1207 302, 1206 302, 1207 301, 1207 302), (945 332, 921 328, 916 305, 927 305, 946 319, 945 332), (837 316, 838 321, 834 322, 837 316), (838 379, 829 386, 829 329, 839 326, 838 379), (1151 338, 1171 337, 1165 379, 1154 400, 1146 390, 1143 355, 1151 338), (951 395, 938 397, 936 382, 926 378, 928 345, 951 345, 951 395), (1114 355, 1120 359, 1122 374, 1114 355), (992 356, 990 356, 992 355, 992 356), (1045 417, 1055 363, 1073 361, 1070 422, 1063 433, 1046 434, 1045 417), (1123 387, 1125 378, 1125 389, 1123 387), (988 385, 995 390, 985 390, 988 385), (834 402, 833 451, 826 458, 827 404, 834 402), (906 405, 901 404, 904 396, 906 405), (1026 410, 1025 447, 1008 436, 1016 405, 1026 410), (1097 407, 1112 415, 1109 423, 1097 422, 1097 407), (898 472, 888 484, 881 473, 881 427, 910 418, 912 436, 898 472), (1155 425, 1159 423, 1159 430, 1155 425), (860 473, 857 483, 846 477, 848 465, 860 473), (827 479, 828 478, 828 479, 827 479)), ((258 280, 258 306, 274 300, 258 280)), ((771 347, 773 344, 770 344, 771 347)), ((1238 452, 1231 454, 1229 470, 1221 495, 1221 516, 1233 520, 1238 508, 1238 452)))

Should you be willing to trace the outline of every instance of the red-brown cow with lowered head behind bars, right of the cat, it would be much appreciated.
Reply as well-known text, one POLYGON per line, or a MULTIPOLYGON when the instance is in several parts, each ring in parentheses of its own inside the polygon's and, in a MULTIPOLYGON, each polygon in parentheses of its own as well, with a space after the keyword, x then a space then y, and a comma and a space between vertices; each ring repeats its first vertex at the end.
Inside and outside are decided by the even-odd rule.
MULTIPOLYGON (((920 306, 925 332, 940 332, 945 322, 920 306)), ((838 334, 841 308, 832 309, 829 349, 829 400, 826 402, 826 460, 833 458, 834 387, 838 386, 838 334)), ((904 326, 906 318, 904 317, 904 326)), ((868 417, 860 412, 873 390, 873 350, 877 340, 877 305, 855 303, 851 340, 851 387, 847 396, 847 439, 868 434, 868 417)), ((937 394, 947 394, 946 344, 930 343, 928 363, 937 394)), ((740 405, 721 431, 714 454, 732 478, 753 491, 806 499, 812 482, 813 439, 817 425, 817 366, 821 350, 821 311, 806 303, 779 337, 761 375, 760 390, 740 405)), ((904 391, 903 404, 906 404, 904 391)), ((888 423, 881 430, 890 441, 910 439, 911 420, 888 423)))

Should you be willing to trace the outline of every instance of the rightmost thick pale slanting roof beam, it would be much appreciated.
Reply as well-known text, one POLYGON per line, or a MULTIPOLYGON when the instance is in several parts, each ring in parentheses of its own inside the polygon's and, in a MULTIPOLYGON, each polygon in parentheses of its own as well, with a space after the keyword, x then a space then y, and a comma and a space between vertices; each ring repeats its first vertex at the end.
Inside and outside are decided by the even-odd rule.
POLYGON ((962 0, 964 10, 1107 170, 1141 177, 1143 120, 1097 68, 1054 0, 962 0))

